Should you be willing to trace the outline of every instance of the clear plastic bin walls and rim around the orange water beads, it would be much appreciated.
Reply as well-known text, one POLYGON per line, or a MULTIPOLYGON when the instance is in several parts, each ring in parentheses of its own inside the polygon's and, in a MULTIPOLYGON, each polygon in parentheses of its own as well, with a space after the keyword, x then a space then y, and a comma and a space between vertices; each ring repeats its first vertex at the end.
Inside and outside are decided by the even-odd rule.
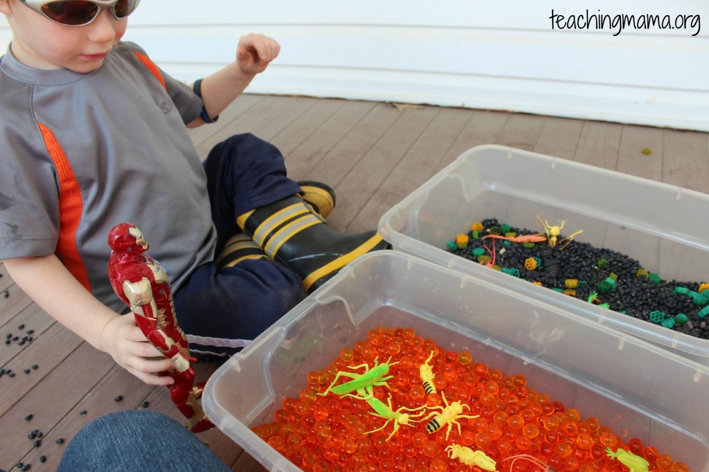
POLYGON ((272 471, 297 471, 250 427, 297 398, 308 372, 379 326, 412 327, 469 351, 582 419, 596 417, 709 472, 709 368, 565 309, 403 252, 360 257, 221 366, 203 394, 208 417, 272 471))

